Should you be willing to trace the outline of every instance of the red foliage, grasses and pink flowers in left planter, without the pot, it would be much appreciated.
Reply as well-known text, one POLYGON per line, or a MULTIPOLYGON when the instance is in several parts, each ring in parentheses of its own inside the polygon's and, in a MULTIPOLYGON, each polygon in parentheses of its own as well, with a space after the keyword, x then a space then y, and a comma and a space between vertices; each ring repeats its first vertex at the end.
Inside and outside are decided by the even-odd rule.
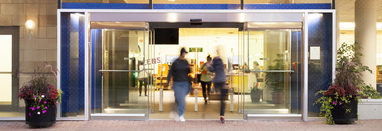
MULTIPOLYGON (((24 70, 21 70, 19 75, 22 71, 24 70)), ((19 99, 23 99, 26 105, 30 104, 28 107, 32 112, 27 112, 29 116, 46 113, 49 105, 61 102, 61 89, 57 90, 51 84, 57 80, 56 71, 59 73, 57 68, 52 69, 52 66, 45 62, 44 68, 40 69, 37 66, 37 69, 31 72, 31 77, 19 89, 19 99)))

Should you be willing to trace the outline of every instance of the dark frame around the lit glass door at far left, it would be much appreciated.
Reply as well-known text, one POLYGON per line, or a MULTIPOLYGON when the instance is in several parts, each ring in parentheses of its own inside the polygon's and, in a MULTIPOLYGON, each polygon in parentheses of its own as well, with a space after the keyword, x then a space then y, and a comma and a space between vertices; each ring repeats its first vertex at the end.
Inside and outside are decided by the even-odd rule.
POLYGON ((19 71, 19 29, 19 26, 0 26, 0 35, 12 35, 12 102, 11 105, 0 105, 0 108, 6 109, 3 112, 21 110, 18 99, 19 78, 17 77, 19 71))

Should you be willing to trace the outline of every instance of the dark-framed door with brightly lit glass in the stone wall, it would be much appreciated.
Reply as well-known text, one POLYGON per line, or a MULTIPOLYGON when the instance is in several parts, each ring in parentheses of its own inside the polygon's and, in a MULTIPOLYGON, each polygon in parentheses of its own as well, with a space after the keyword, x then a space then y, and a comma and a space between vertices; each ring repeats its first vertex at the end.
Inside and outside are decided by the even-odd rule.
POLYGON ((18 99, 19 27, 0 26, 0 117, 24 117, 24 100, 18 99))

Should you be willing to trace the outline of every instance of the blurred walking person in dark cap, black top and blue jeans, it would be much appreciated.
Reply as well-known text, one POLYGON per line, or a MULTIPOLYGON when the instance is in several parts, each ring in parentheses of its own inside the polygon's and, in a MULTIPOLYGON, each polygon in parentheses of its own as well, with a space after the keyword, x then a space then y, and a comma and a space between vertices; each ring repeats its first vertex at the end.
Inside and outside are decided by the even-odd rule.
POLYGON ((184 48, 180 50, 180 57, 172 64, 167 77, 167 81, 171 81, 171 76, 173 77, 172 89, 174 89, 175 103, 178 105, 179 120, 181 122, 185 122, 183 116, 186 108, 185 96, 189 93, 191 86, 191 81, 188 76, 191 69, 188 61, 185 59, 187 53, 184 48))

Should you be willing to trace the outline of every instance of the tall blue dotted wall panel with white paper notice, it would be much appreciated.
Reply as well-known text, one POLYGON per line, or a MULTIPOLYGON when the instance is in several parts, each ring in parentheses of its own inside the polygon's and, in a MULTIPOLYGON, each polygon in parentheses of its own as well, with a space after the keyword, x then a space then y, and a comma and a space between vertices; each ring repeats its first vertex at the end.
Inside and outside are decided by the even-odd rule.
POLYGON ((308 58, 308 117, 317 117, 320 105, 313 105, 322 95, 315 94, 327 90, 332 81, 332 13, 309 13, 308 51, 310 47, 320 47, 320 60, 308 58))

